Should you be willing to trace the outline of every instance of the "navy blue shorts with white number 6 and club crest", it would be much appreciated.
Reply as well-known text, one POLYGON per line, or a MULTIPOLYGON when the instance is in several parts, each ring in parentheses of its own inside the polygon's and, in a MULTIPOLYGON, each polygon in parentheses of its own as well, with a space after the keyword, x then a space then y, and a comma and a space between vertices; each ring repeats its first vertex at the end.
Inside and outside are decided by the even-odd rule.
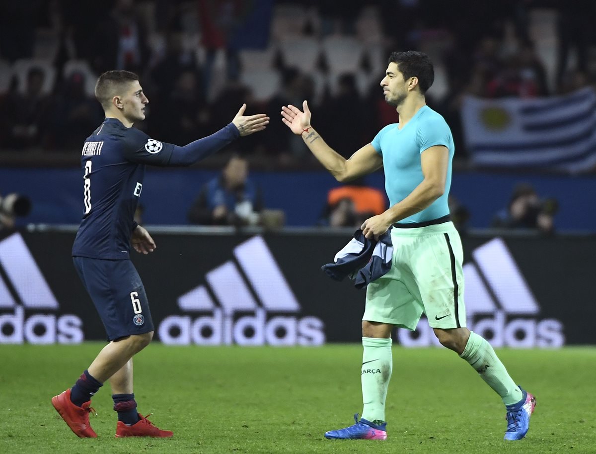
POLYGON ((73 262, 110 341, 153 331, 145 288, 130 260, 73 257, 73 262))

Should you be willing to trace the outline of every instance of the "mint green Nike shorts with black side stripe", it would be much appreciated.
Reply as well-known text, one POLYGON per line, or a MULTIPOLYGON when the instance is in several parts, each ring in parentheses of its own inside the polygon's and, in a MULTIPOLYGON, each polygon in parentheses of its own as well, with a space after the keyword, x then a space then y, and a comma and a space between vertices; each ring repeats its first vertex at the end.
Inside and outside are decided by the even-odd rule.
POLYGON ((422 314, 432 328, 465 326, 463 251, 451 221, 391 230, 391 270, 367 286, 362 320, 412 331, 422 314))

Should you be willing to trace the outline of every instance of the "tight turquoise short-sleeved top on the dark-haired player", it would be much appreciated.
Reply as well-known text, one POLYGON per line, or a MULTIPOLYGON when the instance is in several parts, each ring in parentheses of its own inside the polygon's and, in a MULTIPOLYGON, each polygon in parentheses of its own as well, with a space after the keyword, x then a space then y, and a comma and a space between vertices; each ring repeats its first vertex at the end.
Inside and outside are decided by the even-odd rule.
POLYGON ((385 190, 391 206, 405 199, 424 179, 420 155, 436 145, 449 149, 449 166, 445 192, 432 205, 400 223, 421 223, 449 214, 447 197, 451 187, 451 162, 455 152, 451 129, 445 119, 428 106, 421 107, 414 117, 399 129, 399 123, 385 126, 372 145, 383 156, 385 190))

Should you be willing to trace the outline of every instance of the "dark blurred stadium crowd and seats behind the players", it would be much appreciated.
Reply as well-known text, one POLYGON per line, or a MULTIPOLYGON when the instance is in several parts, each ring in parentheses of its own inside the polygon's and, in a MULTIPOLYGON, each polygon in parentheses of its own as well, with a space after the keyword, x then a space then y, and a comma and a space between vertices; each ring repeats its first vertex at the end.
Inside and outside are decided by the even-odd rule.
MULTIPOLYGON (((243 102, 275 117, 308 99, 318 130, 348 156, 396 122, 378 87, 389 52, 425 51, 436 71, 427 99, 451 125, 460 162, 462 94, 536 97, 594 84, 594 2, 455 3, 2 2, 0 152, 79 147, 101 122, 93 86, 108 69, 139 73, 151 112, 137 126, 160 140, 210 134, 243 102)), ((316 167, 281 121, 238 147, 255 168, 316 167)))

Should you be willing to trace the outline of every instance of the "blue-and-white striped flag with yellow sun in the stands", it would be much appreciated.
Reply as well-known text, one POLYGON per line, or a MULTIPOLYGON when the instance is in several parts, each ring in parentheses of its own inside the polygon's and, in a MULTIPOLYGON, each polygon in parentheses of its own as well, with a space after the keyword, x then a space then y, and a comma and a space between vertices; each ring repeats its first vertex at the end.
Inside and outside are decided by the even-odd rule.
POLYGON ((464 98, 464 140, 478 167, 580 173, 596 167, 596 92, 548 98, 464 98))

